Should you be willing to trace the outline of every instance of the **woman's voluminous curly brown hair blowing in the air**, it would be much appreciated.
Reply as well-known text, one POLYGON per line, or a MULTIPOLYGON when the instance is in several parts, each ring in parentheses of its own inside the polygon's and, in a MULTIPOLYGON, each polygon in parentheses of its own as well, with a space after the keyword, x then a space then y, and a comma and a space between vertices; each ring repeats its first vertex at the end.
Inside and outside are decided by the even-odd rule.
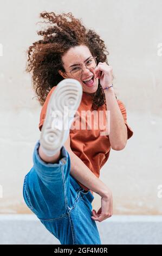
MULTIPOLYGON (((81 20, 75 19, 72 13, 56 15, 54 12, 43 11, 40 17, 48 20, 42 23, 50 25, 46 31, 37 32, 43 39, 34 42, 27 50, 28 63, 25 71, 32 71, 33 88, 42 106, 51 88, 64 79, 59 70, 65 71, 62 56, 69 48, 86 45, 93 57, 96 56, 97 64, 108 64, 106 55, 109 52, 100 36, 83 26, 81 20)), ((92 94, 92 100, 94 109, 106 103, 100 80, 98 89, 92 94)))

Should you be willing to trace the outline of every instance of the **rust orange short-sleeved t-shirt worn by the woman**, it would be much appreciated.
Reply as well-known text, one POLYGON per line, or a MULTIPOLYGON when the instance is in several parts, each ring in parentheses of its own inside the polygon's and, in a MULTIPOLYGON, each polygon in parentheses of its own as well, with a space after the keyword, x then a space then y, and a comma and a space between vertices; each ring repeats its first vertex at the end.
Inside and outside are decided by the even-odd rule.
MULTIPOLYGON (((47 95, 46 101, 44 102, 44 105, 42 107, 39 124, 40 131, 43 125, 44 118, 46 117, 47 105, 50 95, 55 88, 56 86, 50 90, 47 95)), ((127 139, 129 139, 132 137, 133 131, 131 127, 127 124, 126 108, 124 106, 124 103, 122 103, 118 99, 116 100, 118 102, 120 111, 127 126, 127 139)), ((70 127, 70 147, 75 155, 77 155, 86 164, 86 166, 99 178, 100 169, 103 164, 105 164, 108 160, 111 150, 111 144, 109 142, 108 135, 101 135, 100 133, 105 131, 104 125, 107 125, 107 123, 105 123, 105 121, 107 121, 106 103, 98 107, 98 109, 95 111, 92 106, 92 95, 83 92, 80 106, 77 109, 73 124, 70 127), (85 114, 85 111, 87 114, 85 114), (90 112, 95 113, 96 117, 98 118, 93 118, 93 115, 92 119, 88 118, 90 117, 90 114, 88 115, 88 113, 90 112), (101 119, 99 118, 99 113, 101 114, 101 119, 103 119, 103 126, 101 124, 101 119), (100 126, 98 127, 99 120, 100 126)), ((89 190, 89 188, 81 184, 79 181, 77 182, 84 190, 89 190)))

